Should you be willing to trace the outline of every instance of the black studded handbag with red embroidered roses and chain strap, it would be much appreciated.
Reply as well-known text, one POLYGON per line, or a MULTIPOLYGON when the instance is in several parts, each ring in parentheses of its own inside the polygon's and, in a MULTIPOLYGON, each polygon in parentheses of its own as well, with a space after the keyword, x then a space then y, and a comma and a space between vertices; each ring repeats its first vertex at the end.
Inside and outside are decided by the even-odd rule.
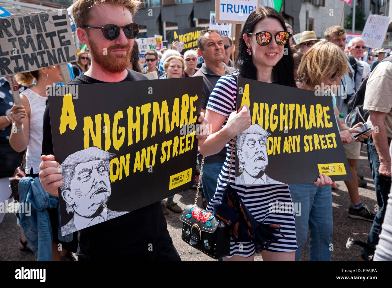
MULTIPOLYGON (((231 147, 229 180, 230 183, 231 164, 233 157, 234 139, 231 147)), ((187 205, 180 216, 183 222, 181 238, 192 247, 200 250, 205 255, 214 259, 220 259, 230 254, 230 227, 219 220, 211 212, 198 207, 198 193, 200 189, 201 175, 203 173, 204 157, 201 160, 199 183, 196 190, 195 203, 187 205)))

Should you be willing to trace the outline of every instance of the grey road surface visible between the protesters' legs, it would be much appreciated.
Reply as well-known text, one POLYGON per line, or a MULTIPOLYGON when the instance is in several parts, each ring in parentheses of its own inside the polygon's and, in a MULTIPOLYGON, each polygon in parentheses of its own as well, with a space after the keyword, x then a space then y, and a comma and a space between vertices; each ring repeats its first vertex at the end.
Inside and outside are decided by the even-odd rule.
MULTIPOLYGON (((357 163, 358 173, 365 176, 367 187, 359 188, 359 195, 363 205, 367 205, 370 211, 374 211, 376 193, 372 174, 367 160, 366 145, 362 145, 361 158, 357 163)), ((195 189, 187 189, 174 196, 174 202, 177 202, 181 208, 194 202, 196 195, 195 189)), ((164 200, 165 201, 165 200, 164 200)), ((365 220, 356 220, 347 217, 350 197, 348 196, 347 187, 343 181, 338 182, 338 189, 332 190, 333 221, 334 232, 332 235, 332 261, 359 261, 361 248, 359 246, 346 248, 347 239, 354 238, 367 241, 368 232, 372 222, 365 220)), ((198 205, 201 207, 201 197, 199 195, 198 205)), ((166 215, 169 233, 173 239, 174 246, 183 261, 216 261, 198 250, 192 248, 181 239, 182 222, 180 213, 170 211, 166 215)), ((5 214, 4 220, 0 223, 0 261, 34 261, 36 257, 33 253, 22 252, 19 250, 20 228, 16 225, 15 214, 5 214)), ((256 261, 262 261, 260 255, 256 255, 256 261)), ((307 245, 302 249, 301 261, 309 261, 309 239, 307 245)))

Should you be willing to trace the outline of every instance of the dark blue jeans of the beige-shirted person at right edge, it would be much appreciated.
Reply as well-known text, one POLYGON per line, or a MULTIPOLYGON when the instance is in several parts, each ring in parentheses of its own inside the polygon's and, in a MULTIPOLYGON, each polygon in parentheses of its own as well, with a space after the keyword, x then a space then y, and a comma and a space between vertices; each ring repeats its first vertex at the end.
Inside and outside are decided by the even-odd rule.
MULTIPOLYGON (((372 170, 372 177, 374 186, 376 188, 376 197, 379 211, 373 220, 372 228, 370 228, 368 243, 377 245, 378 236, 381 233, 381 225, 384 221, 385 211, 387 210, 388 194, 391 188, 391 177, 383 176, 378 173, 380 167, 380 160, 377 154, 376 147, 374 146, 373 139, 370 137, 367 143, 368 159, 370 163, 370 170, 372 170)), ((363 248, 364 260, 369 260, 369 256, 374 254, 371 248, 363 248)))

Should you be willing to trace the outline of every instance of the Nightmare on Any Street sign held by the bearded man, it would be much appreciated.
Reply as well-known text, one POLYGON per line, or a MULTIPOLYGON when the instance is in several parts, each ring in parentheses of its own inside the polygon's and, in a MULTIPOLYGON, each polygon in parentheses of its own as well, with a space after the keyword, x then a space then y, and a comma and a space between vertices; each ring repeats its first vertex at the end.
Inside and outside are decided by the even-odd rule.
POLYGON ((193 185, 201 77, 62 87, 48 101, 63 234, 87 227, 76 213, 108 220, 193 185))

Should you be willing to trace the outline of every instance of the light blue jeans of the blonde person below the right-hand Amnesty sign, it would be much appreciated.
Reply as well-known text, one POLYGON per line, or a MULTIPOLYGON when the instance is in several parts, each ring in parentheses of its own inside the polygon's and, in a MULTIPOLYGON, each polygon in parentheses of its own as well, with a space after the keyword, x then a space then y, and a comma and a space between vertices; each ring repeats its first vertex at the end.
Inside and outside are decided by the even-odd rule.
MULTIPOLYGON (((295 260, 301 259, 310 229, 310 261, 331 261, 332 250, 332 190, 331 186, 317 187, 313 183, 289 184, 291 199, 301 203, 295 217, 298 249, 295 260)), ((293 205, 294 207, 294 205, 293 205)))

